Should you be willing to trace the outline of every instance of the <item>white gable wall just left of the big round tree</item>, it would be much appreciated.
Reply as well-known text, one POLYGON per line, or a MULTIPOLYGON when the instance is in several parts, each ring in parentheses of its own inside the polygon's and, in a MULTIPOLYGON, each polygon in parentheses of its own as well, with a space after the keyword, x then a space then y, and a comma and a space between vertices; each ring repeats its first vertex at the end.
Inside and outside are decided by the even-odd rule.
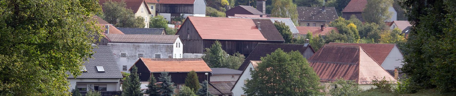
POLYGON ((233 86, 233 90, 231 90, 231 92, 233 92, 233 96, 244 95, 244 90, 242 90, 242 87, 244 87, 244 80, 252 79, 252 76, 250 75, 250 68, 254 68, 252 63, 249 63, 247 69, 244 70, 244 73, 239 77, 239 80, 233 86))

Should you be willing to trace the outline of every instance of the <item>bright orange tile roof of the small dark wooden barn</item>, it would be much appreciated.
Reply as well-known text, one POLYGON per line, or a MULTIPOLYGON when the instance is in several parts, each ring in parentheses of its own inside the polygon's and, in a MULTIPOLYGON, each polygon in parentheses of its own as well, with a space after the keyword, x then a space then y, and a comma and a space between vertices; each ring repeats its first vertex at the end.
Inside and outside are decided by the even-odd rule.
MULTIPOLYGON (((211 72, 211 68, 207 66, 201 58, 140 58, 138 61, 143 61, 150 72, 211 72)), ((136 63, 135 63, 136 64, 136 63)))

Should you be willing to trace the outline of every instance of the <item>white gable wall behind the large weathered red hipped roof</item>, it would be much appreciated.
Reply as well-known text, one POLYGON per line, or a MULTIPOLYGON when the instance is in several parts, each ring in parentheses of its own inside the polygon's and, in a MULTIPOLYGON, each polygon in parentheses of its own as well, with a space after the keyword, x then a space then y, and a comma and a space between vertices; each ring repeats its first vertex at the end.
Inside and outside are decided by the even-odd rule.
POLYGON ((382 67, 385 70, 394 70, 394 66, 399 66, 399 68, 402 68, 402 64, 404 64, 402 63, 403 59, 404 56, 399 50, 399 47, 397 45, 394 45, 393 50, 389 52, 389 55, 386 57, 385 61, 383 61, 382 67))

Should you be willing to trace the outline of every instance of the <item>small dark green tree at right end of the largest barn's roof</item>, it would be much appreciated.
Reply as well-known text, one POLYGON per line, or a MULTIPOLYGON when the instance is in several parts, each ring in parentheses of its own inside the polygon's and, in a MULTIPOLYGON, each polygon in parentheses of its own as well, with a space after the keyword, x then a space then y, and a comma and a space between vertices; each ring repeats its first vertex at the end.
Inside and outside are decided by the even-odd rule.
POLYGON ((280 35, 284 38, 285 42, 284 43, 292 43, 293 40, 293 35, 290 31, 290 27, 288 25, 285 25, 284 22, 282 21, 275 21, 274 22, 275 28, 279 30, 280 35))

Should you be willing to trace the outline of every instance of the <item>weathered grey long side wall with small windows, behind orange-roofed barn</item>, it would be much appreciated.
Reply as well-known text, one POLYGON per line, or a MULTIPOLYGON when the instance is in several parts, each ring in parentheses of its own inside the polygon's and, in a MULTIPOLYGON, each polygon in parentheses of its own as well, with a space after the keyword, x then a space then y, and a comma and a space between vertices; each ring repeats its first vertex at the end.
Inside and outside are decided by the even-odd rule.
MULTIPOLYGON (((113 48, 114 55, 119 64, 120 71, 128 72, 133 64, 138 61, 138 54, 143 54, 144 58, 155 58, 155 54, 160 54, 161 58, 168 58, 173 55, 175 44, 150 44, 150 43, 108 43, 113 48), (126 53, 126 57, 120 57, 121 53, 126 53), (127 66, 127 71, 123 70, 127 66)), ((128 72, 130 73, 130 72, 128 72)))

